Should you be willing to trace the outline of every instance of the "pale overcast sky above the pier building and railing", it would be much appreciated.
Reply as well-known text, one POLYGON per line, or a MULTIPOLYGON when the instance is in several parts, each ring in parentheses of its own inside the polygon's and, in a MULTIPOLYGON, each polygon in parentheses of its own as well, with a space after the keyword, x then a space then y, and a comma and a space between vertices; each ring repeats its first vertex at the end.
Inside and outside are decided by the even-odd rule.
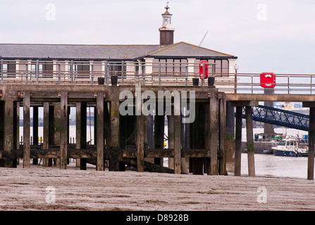
MULTIPOLYGON (((0 1, 0 43, 159 44, 166 1, 0 1)), ((314 0, 169 0, 174 41, 237 56, 240 72, 315 74, 314 0)))

